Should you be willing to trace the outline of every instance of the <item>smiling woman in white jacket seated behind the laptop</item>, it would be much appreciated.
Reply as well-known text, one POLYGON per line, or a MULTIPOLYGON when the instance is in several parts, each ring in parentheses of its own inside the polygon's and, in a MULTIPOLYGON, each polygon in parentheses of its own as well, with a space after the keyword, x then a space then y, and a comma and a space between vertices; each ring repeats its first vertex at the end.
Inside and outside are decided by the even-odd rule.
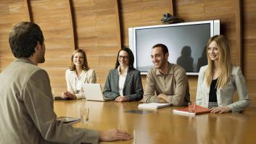
POLYGON ((76 49, 71 56, 70 69, 66 70, 67 91, 65 98, 85 98, 81 84, 95 83, 94 69, 87 64, 86 53, 82 49, 76 49))

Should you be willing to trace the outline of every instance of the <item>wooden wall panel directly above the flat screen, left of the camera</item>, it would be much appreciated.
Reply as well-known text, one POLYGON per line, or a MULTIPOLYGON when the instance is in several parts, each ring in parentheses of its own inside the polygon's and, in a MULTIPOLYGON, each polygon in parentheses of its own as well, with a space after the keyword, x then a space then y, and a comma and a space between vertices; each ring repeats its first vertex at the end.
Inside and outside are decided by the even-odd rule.
POLYGON ((162 14, 170 12, 169 3, 167 0, 120 1, 124 46, 129 46, 128 27, 161 25, 162 14))

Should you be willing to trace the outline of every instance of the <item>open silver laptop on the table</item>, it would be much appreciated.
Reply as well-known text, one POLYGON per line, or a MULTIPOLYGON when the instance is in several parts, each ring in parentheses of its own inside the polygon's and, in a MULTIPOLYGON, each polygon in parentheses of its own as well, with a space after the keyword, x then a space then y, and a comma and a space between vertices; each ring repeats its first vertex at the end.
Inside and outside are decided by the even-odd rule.
POLYGON ((82 84, 83 91, 88 101, 111 101, 110 98, 105 98, 102 93, 102 88, 99 83, 84 83, 82 84))

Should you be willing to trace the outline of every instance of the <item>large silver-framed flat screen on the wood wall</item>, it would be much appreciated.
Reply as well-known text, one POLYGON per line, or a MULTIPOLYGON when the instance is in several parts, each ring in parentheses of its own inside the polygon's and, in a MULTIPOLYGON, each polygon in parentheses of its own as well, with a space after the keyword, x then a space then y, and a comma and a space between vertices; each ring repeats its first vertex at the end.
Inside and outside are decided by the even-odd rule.
POLYGON ((207 65, 207 41, 220 34, 220 20, 129 27, 128 33, 134 67, 141 74, 153 67, 152 46, 162 43, 168 47, 168 62, 181 65, 187 75, 198 75, 200 67, 207 65))

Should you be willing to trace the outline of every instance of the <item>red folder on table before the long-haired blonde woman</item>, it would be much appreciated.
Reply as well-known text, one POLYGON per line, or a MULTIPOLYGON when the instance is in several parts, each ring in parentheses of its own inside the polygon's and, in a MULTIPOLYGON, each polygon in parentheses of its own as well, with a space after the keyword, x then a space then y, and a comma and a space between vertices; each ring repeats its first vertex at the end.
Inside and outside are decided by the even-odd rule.
POLYGON ((196 111, 190 114, 189 114, 189 107, 173 110, 173 114, 186 114, 186 115, 204 114, 209 112, 210 112, 210 109, 207 109, 205 107, 198 106, 198 105, 196 106, 196 111))

